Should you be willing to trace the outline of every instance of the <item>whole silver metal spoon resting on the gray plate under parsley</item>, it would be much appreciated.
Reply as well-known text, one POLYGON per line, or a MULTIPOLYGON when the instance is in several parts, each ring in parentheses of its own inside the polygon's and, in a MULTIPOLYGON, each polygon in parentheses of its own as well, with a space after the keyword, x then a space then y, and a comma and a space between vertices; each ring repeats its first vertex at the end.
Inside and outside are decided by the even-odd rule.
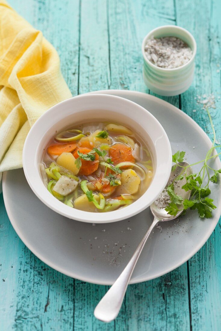
MULTIPOLYGON (((170 178, 168 180, 167 186, 171 184, 171 182, 179 176, 183 172, 183 168, 185 166, 189 166, 187 162, 179 163, 179 166, 174 171, 171 171, 170 178)), ((187 168, 187 175, 193 173, 191 166, 187 168)), ((185 176, 184 176, 185 177, 185 176)), ((182 189, 182 186, 185 184, 186 180, 183 178, 182 180, 174 182, 174 192, 181 196, 183 199, 189 199, 191 191, 186 192, 182 189)), ((182 209, 182 206, 181 206, 182 209)), ((139 243, 134 255, 132 256, 131 260, 128 262, 125 269, 122 271, 120 276, 117 278, 115 283, 111 286, 105 296, 101 299, 98 303, 97 307, 94 310, 94 316, 101 321, 110 322, 115 319, 121 309, 122 302, 124 300, 124 296, 128 287, 128 283, 131 279, 132 273, 134 268, 137 264, 139 259, 140 253, 149 237, 150 233, 152 232, 154 226, 162 221, 169 221, 172 219, 177 218, 182 211, 178 212, 176 216, 169 215, 165 208, 159 208, 155 202, 152 203, 150 206, 150 210, 154 216, 153 222, 150 225, 149 229, 147 230, 146 234, 144 235, 143 239, 139 243)))

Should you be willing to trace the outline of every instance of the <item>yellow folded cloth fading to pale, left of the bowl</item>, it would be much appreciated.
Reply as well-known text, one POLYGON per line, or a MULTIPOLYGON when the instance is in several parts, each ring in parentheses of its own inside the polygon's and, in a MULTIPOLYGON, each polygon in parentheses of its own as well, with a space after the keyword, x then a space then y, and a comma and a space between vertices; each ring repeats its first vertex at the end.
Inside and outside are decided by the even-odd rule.
POLYGON ((54 47, 0 0, 0 182, 2 171, 22 167, 37 118, 70 97, 54 47))

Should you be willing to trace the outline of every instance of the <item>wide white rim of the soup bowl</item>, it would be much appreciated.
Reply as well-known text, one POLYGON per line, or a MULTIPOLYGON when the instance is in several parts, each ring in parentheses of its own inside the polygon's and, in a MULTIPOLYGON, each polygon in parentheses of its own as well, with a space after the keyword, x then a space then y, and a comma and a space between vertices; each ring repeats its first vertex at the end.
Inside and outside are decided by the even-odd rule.
MULTIPOLYGON (((130 118, 129 115, 128 115, 128 117, 130 118)), ((34 160, 32 160, 31 162, 32 162, 32 166, 34 167, 34 160)), ((131 216, 134 216, 135 214, 138 214, 138 213, 142 212, 144 209, 149 207, 150 204, 153 201, 155 201, 157 199, 159 194, 162 192, 162 190, 166 186, 167 181, 168 181, 169 176, 170 176, 171 166, 172 166, 171 145, 170 145, 170 142, 169 142, 169 138, 167 137, 167 134, 166 134, 164 128, 162 127, 162 125, 159 123, 159 121, 151 113, 149 113, 146 109, 144 109, 140 105, 136 104, 135 102, 127 100, 127 99, 122 98, 122 97, 113 96, 113 95, 109 95, 109 94, 83 94, 83 95, 78 95, 78 96, 69 98, 67 100, 64 100, 64 101, 54 105, 49 110, 47 110, 40 118, 38 118, 37 121, 34 123, 34 125, 31 127, 31 129, 28 132, 28 135, 26 137, 24 148, 23 148, 24 173, 25 173, 26 179, 28 181, 28 184, 29 184, 30 188, 32 189, 32 191, 35 193, 35 195, 47 207, 49 207, 53 211, 55 211, 55 212, 57 212, 57 213, 59 213, 63 216, 66 216, 70 219, 83 221, 83 222, 88 222, 88 223, 115 222, 115 221, 119 221, 119 220, 122 220, 122 219, 129 218, 131 216), (32 133, 40 125, 41 121, 44 120, 45 118, 47 118, 52 112, 54 112, 54 110, 57 107, 60 107, 61 104, 62 105, 64 105, 65 103, 68 104, 68 103, 70 103, 70 101, 72 102, 73 99, 83 99, 83 98, 91 98, 91 97, 94 98, 94 99, 95 98, 109 98, 109 99, 112 99, 112 100, 115 99, 115 101, 119 101, 119 99, 120 99, 121 102, 124 102, 125 105, 133 105, 134 107, 139 109, 140 112, 143 112, 146 115, 148 115, 148 117, 153 120, 153 122, 157 125, 157 128, 160 130, 161 134, 163 135, 163 141, 164 141, 164 144, 165 144, 164 151, 166 151, 166 153, 164 155, 164 159, 162 158, 162 155, 157 154, 157 158, 159 157, 159 160, 157 160, 157 162, 164 162, 166 164, 166 168, 164 169, 164 172, 162 173, 162 171, 161 172, 158 171, 157 170, 158 168, 156 167, 156 173, 154 175, 152 183, 155 184, 154 179, 155 179, 155 182, 156 182, 156 178, 160 178, 160 180, 157 183, 158 184, 157 188, 155 187, 155 189, 154 189, 154 185, 152 185, 152 190, 153 190, 154 194, 151 196, 151 199, 149 199, 147 202, 145 202, 144 198, 147 195, 147 192, 150 193, 151 185, 147 189, 147 191, 144 192, 144 194, 138 200, 136 200, 133 204, 127 206, 124 209, 120 209, 120 210, 116 210, 116 211, 108 212, 108 213, 92 213, 92 212, 84 212, 84 211, 81 211, 81 210, 74 209, 74 213, 73 213, 72 208, 70 208, 70 207, 66 206, 65 204, 61 203, 60 201, 58 201, 56 198, 54 198, 50 194, 49 195, 51 196, 51 198, 53 198, 53 201, 55 201, 55 199, 57 201, 56 201, 56 204, 52 203, 52 202, 48 202, 48 200, 46 198, 49 197, 47 195, 49 192, 45 188, 45 186, 43 184, 43 181, 42 181, 41 184, 44 186, 45 191, 40 192, 40 190, 36 189, 35 186, 33 185, 33 180, 32 180, 33 178, 31 178, 30 175, 29 175, 28 164, 27 164, 28 160, 30 160, 30 157, 29 157, 29 155, 26 155, 26 151, 27 151, 28 145, 29 145, 29 139, 31 139, 32 133), (45 192, 47 192, 47 194, 45 192), (44 197, 44 195, 46 195, 46 198, 44 197)), ((36 172, 36 174, 39 174, 39 169, 35 169, 35 172, 36 172)), ((50 200, 50 198, 49 198, 49 200, 50 200)))

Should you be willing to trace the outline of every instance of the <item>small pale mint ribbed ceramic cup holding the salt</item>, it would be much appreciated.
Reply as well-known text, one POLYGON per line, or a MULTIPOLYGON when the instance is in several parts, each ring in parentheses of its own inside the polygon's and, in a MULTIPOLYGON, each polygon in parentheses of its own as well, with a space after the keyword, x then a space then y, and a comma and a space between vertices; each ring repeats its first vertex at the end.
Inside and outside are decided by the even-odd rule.
POLYGON ((185 92, 193 81, 194 58, 196 54, 196 42, 193 35, 186 29, 177 25, 163 25, 150 31, 142 42, 143 54, 143 79, 146 86, 159 95, 173 96, 185 92), (160 37, 178 37, 188 44, 193 55, 185 65, 166 69, 155 66, 151 63, 145 54, 146 41, 151 38, 160 37))

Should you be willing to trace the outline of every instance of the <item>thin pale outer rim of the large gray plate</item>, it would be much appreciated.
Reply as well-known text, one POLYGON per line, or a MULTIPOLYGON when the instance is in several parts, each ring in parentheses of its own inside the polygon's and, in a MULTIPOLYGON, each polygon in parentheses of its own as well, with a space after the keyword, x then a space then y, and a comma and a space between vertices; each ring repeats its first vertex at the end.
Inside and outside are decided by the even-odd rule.
MULTIPOLYGON (((160 98, 157 98, 153 95, 150 95, 150 94, 147 94, 147 93, 143 93, 143 92, 138 92, 138 91, 130 91, 130 90, 99 90, 99 91, 93 91, 93 92, 89 92, 89 93, 85 93, 85 94, 92 94, 92 93, 124 93, 124 94, 133 94, 133 95, 140 95, 140 97, 144 97, 146 99, 152 99, 153 101, 157 102, 157 103, 160 103, 162 105, 164 105, 166 103, 167 107, 170 107, 172 111, 175 111, 176 113, 178 112, 179 115, 183 118, 185 118, 186 120, 188 120, 192 125, 194 125, 197 130, 203 135, 203 138, 207 141, 208 144, 212 144, 210 138, 208 137, 208 135, 203 131, 203 129, 189 116, 187 115, 186 113, 184 113, 182 110, 180 110, 179 108, 177 108, 176 106, 170 104, 169 102, 167 101, 164 101, 160 98)), ((113 94, 115 95, 115 94, 113 94)), ((204 141, 205 141, 204 140, 204 141)), ((216 151, 216 150, 215 150, 216 151)), ((221 168, 221 161, 219 158, 216 158, 216 162, 219 163, 220 165, 220 168, 221 168)), ((98 284, 98 285, 112 285, 113 282, 105 282, 104 281, 99 281, 99 282, 96 282, 94 280, 91 280, 90 278, 87 278, 87 277, 79 277, 78 275, 74 275, 73 273, 70 273, 68 271, 64 271, 63 268, 55 265, 54 263, 50 262, 49 260, 47 260, 47 258, 45 257, 42 257, 41 254, 38 254, 38 252, 36 252, 35 248, 33 248, 31 246, 31 244, 29 245, 29 243, 27 244, 27 240, 24 239, 23 237, 23 234, 22 232, 20 231, 20 229, 17 227, 16 225, 16 219, 15 217, 12 215, 11 213, 11 210, 10 210, 10 205, 9 205, 9 201, 6 199, 6 179, 7 179, 7 173, 8 171, 4 171, 3 172, 3 177, 2 177, 2 191, 3 191, 3 199, 4 199, 4 204, 5 204, 5 209, 6 209, 6 212, 8 214, 8 217, 9 217, 9 220, 14 228, 14 230, 16 231, 16 233, 18 234, 19 238, 23 241, 23 243, 28 247, 28 249, 37 257, 39 258, 42 262, 44 262, 45 264, 47 264, 48 266, 50 266, 51 268, 69 276, 69 277, 72 277, 72 278, 76 278, 76 279, 79 279, 79 280, 82 280, 82 281, 85 281, 85 282, 89 282, 89 283, 92 283, 92 284, 98 284)), ((219 184, 221 186, 221 183, 219 184)), ((217 209, 214 211, 215 214, 213 216, 213 219, 214 219, 214 224, 212 226, 212 228, 210 229, 210 231, 208 231, 205 236, 201 239, 200 241, 200 244, 197 245, 197 247, 195 247, 194 250, 192 250, 192 252, 187 256, 185 257, 184 259, 180 260, 175 266, 171 267, 171 268, 168 268, 166 271, 163 271, 161 273, 158 273, 157 275, 155 275, 154 277, 139 277, 138 279, 134 279, 133 278, 131 279, 130 283, 129 284, 137 284, 137 283, 141 283, 141 282, 144 282, 144 281, 148 281, 148 280, 152 280, 152 279, 155 279, 155 278, 158 278, 176 268, 178 268, 179 266, 181 266, 182 264, 184 264, 185 262, 187 262, 190 258, 193 257, 193 255, 195 255, 199 250, 200 248, 205 244, 205 242, 208 240, 208 238, 210 237, 210 235, 212 234, 212 232, 214 231, 218 221, 219 221, 219 218, 220 218, 220 213, 221 213, 221 195, 220 195, 220 199, 217 203, 217 209), (217 218, 217 219, 216 219, 217 218)))

